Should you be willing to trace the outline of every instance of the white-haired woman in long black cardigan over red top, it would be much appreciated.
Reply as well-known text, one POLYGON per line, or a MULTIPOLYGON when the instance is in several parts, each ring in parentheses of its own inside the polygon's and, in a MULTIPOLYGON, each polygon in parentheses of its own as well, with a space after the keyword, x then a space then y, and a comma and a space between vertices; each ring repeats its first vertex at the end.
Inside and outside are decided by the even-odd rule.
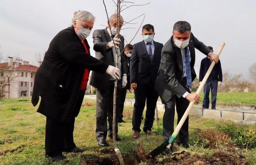
POLYGON ((38 112, 46 116, 46 157, 66 159, 62 152, 82 152, 73 139, 89 72, 119 78, 119 69, 90 56, 89 36, 95 17, 87 11, 74 13, 73 25, 60 31, 50 42, 35 76, 32 103, 41 96, 38 112))

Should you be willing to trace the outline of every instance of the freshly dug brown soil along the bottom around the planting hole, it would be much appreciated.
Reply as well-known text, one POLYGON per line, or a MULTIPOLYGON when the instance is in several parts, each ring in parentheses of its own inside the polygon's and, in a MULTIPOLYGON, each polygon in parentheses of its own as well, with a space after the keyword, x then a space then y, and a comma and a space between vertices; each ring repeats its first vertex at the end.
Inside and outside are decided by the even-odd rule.
MULTIPOLYGON (((126 165, 138 165, 145 163, 148 165, 249 165, 245 157, 234 153, 232 149, 224 149, 214 153, 210 158, 202 158, 189 151, 179 151, 172 153, 170 157, 162 157, 162 159, 150 159, 145 154, 141 143, 137 143, 137 150, 133 158, 124 157, 126 165)), ((99 151, 101 156, 81 155, 81 163, 83 165, 118 165, 118 158, 114 150, 106 148, 99 151)))

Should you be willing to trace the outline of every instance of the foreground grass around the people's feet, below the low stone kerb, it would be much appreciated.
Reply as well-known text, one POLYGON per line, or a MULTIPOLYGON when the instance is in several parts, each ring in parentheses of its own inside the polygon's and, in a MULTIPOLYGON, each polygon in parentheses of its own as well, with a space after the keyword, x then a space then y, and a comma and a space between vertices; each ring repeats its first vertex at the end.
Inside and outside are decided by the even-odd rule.
MULTIPOLYGON (((32 106, 30 98, 2 100, 0 103, 0 165, 111 164, 111 159, 115 157, 112 153, 112 146, 110 145, 110 147, 106 148, 99 147, 94 135, 96 129, 96 103, 92 100, 84 100, 84 102, 85 103, 80 110, 80 114, 76 119, 74 141, 77 146, 85 148, 86 151, 81 154, 65 153, 64 155, 68 157, 68 161, 52 162, 44 157, 46 117, 36 112, 37 107, 32 106)), ((159 126, 154 124, 153 130, 157 135, 153 137, 142 135, 138 140, 144 147, 146 153, 162 143, 162 115, 163 113, 160 112, 159 126)), ((124 139, 124 141, 119 142, 118 147, 122 152, 123 157, 126 159, 126 162, 132 162, 137 147, 136 140, 131 137, 131 118, 132 107, 125 107, 124 119, 127 122, 118 124, 119 135, 124 139)), ((245 126, 228 121, 224 122, 195 116, 190 116, 189 125, 189 141, 194 145, 194 147, 190 148, 189 151, 186 151, 187 157, 189 158, 188 160, 195 159, 196 157, 198 160, 195 161, 208 160, 208 162, 213 162, 210 164, 222 164, 224 161, 229 161, 224 160, 224 158, 212 158, 217 157, 218 153, 221 153, 220 155, 224 155, 223 157, 228 157, 225 156, 225 154, 228 154, 231 157, 230 159, 233 159, 232 157, 236 159, 236 157, 240 157, 239 155, 243 155, 241 157, 246 157, 246 159, 250 160, 252 164, 256 164, 253 159, 253 157, 256 157, 256 149, 254 147, 235 147, 233 142, 230 141, 217 141, 216 144, 218 143, 218 146, 212 147, 207 139, 199 136, 199 133, 207 130, 226 130, 229 132, 229 125, 233 125, 232 127, 234 127, 234 129, 239 128, 256 131, 256 125, 245 126), (194 154, 196 156, 192 156, 194 154)), ((112 144, 110 139, 107 140, 112 144)), ((174 151, 183 150, 184 148, 182 147, 174 147, 174 151)), ((165 161, 178 162, 183 161, 183 159, 184 158, 179 155, 176 157, 159 156, 155 160, 155 163, 164 164, 165 161)), ((238 159, 242 158, 237 158, 237 160, 238 159)), ((150 161, 141 159, 137 163, 140 163, 140 165, 146 165, 150 164, 149 162, 150 161)))

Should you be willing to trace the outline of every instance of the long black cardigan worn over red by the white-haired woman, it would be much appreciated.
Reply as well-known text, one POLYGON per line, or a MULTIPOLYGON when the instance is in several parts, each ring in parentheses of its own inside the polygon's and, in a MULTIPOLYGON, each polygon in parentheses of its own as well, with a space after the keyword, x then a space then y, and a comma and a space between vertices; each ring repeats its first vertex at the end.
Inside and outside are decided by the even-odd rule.
POLYGON ((78 99, 85 68, 104 73, 108 64, 86 54, 73 27, 60 31, 50 42, 35 75, 32 94, 34 106, 41 96, 37 111, 66 123, 78 99))

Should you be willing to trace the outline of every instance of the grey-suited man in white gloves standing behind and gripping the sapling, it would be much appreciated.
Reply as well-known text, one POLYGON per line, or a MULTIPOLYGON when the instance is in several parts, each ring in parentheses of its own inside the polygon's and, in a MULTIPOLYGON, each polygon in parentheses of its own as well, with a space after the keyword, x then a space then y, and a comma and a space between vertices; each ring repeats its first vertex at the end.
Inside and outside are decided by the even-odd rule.
MULTIPOLYGON (((123 24, 123 18, 120 16, 120 26, 123 24)), ((118 68, 120 69, 120 79, 117 84, 117 96, 116 104, 120 105, 120 93, 122 87, 127 84, 127 67, 126 61, 124 59, 124 37, 122 35, 116 35, 117 26, 117 15, 113 14, 110 16, 108 27, 102 30, 95 30, 92 34, 93 38, 93 49, 95 50, 95 56, 97 59, 105 62, 111 66, 116 65, 116 50, 114 44, 119 46, 118 54, 118 68), (110 31, 111 30, 111 31, 110 31), (111 36, 112 35, 112 36, 111 36), (112 40, 114 39, 114 41, 112 40), (122 54, 121 54, 122 53, 122 54)), ((90 80, 90 85, 97 88, 96 97, 96 139, 98 144, 101 146, 107 146, 106 136, 112 138, 112 120, 113 120, 113 94, 114 94, 114 82, 115 80, 108 76, 108 74, 102 74, 98 72, 92 72, 92 78, 90 80), (107 117, 109 127, 107 127, 107 117)), ((118 109, 118 107, 117 107, 118 109)), ((116 111, 118 115, 118 111, 116 111)), ((117 116, 116 115, 116 116, 117 116)), ((118 125, 116 123, 116 140, 122 140, 119 137, 118 125)))

